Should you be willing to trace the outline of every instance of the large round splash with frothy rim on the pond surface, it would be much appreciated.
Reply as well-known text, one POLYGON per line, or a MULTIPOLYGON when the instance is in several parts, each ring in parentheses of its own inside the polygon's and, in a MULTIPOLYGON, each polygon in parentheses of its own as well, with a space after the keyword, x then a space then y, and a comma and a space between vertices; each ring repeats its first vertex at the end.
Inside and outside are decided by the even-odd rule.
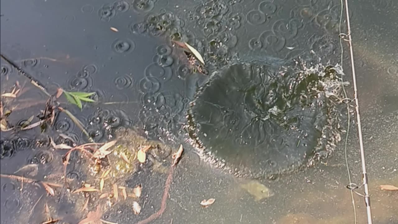
POLYGON ((338 71, 298 62, 234 63, 215 71, 190 103, 191 143, 205 161, 238 177, 273 177, 308 165, 339 141, 338 71))

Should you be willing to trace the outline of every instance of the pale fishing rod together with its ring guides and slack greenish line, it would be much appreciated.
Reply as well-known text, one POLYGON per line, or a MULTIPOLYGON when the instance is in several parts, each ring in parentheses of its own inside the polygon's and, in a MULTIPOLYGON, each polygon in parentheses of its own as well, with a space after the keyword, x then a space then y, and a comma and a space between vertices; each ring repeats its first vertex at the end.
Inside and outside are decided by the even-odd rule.
MULTIPOLYGON (((365 165, 365 151, 363 149, 363 138, 362 138, 362 129, 361 129, 361 117, 359 115, 359 102, 358 102, 358 90, 357 90, 357 80, 355 76, 355 66, 354 66, 354 55, 353 55, 353 47, 352 47, 352 39, 351 39, 351 26, 350 26, 350 21, 349 21, 349 10, 348 10, 348 0, 345 0, 345 12, 346 12, 346 19, 347 19, 347 31, 348 33, 342 33, 341 32, 341 20, 342 20, 342 14, 343 14, 343 0, 340 1, 341 3, 341 14, 340 14, 340 26, 339 26, 339 37, 340 37, 340 47, 341 47, 341 67, 343 66, 343 44, 342 41, 347 41, 349 44, 349 50, 350 50, 350 59, 351 59, 351 73, 352 73, 352 78, 353 78, 353 86, 354 86, 354 100, 355 100, 355 111, 357 114, 357 126, 358 126, 358 137, 359 137, 359 148, 361 152, 361 163, 362 163, 362 185, 358 186, 355 183, 351 182, 351 177, 350 177, 350 171, 349 171, 349 166, 348 166, 348 160, 347 160, 347 140, 348 140, 348 131, 349 131, 349 123, 350 123, 350 116, 349 116, 349 104, 347 104, 347 110, 348 110, 348 126, 347 126, 347 135, 345 138, 345 163, 347 166, 347 172, 348 172, 348 179, 349 179, 349 184, 346 186, 350 191, 351 191, 351 199, 353 203, 353 208, 354 208, 354 221, 355 224, 357 222, 357 217, 356 217, 356 211, 355 211, 355 202, 353 198, 353 193, 356 193, 357 195, 363 196, 365 199, 365 206, 366 206, 366 213, 367 213, 367 222, 368 224, 372 224, 372 214, 371 214, 371 203, 370 203, 370 196, 369 196, 369 188, 368 188, 368 176, 366 172, 366 165, 365 165), (345 39, 348 38, 348 39, 345 39), (354 190, 364 187, 364 195, 361 195, 354 190)), ((347 94, 344 89, 343 85, 343 91, 345 94, 345 97, 347 98, 347 94)))

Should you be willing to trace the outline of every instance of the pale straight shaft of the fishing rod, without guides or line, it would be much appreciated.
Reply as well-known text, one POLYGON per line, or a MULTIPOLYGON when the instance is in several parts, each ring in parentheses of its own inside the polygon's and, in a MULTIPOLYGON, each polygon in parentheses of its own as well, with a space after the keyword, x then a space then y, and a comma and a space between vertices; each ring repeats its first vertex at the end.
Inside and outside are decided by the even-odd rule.
POLYGON ((366 164, 365 164, 365 150, 363 149, 361 117, 359 116, 357 79, 355 76, 354 53, 353 53, 353 47, 352 47, 352 41, 351 41, 351 26, 350 26, 350 21, 349 21, 348 0, 345 0, 345 13, 346 13, 346 17, 347 17, 348 43, 349 43, 349 51, 350 51, 350 58, 351 58, 352 79, 353 79, 353 85, 354 85, 355 111, 357 113, 359 148, 361 151, 362 179, 363 179, 363 187, 364 187, 364 191, 365 191, 364 199, 365 199, 365 205, 366 205, 368 224, 372 224, 373 222, 372 222, 372 212, 371 212, 371 199, 369 196, 368 175, 366 172, 366 164))

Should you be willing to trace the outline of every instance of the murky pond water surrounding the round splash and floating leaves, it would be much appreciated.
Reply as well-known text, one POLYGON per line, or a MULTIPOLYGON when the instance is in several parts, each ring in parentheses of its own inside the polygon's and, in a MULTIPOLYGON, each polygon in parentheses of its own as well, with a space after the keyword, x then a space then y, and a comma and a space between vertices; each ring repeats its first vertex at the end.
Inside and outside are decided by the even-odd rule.
MULTIPOLYGON (((188 72, 181 49, 172 47, 170 37, 197 48, 210 70, 228 65, 236 54, 249 60, 261 59, 262 55, 306 59, 311 50, 321 63, 334 65, 339 63, 341 52, 336 25, 339 3, 148 0, 114 5, 105 1, 2 1, 1 53, 51 93, 58 87, 97 92, 98 103, 84 104, 82 111, 64 98, 60 100, 83 122, 95 141, 106 141, 117 135, 114 129, 123 127, 175 146, 186 140, 181 132, 184 112, 196 87, 207 76, 188 72), (110 5, 115 7, 109 8, 110 5), (111 31, 111 27, 118 32, 111 31)), ((394 138, 398 133, 398 40, 394 39, 398 34, 394 29, 398 6, 393 0, 356 0, 349 7, 374 222, 398 223, 394 216, 398 195, 378 187, 398 185, 398 142, 394 138)), ((347 48, 343 59, 345 80, 352 84, 347 48)), ((5 108, 17 106, 8 117, 8 122, 15 125, 38 114, 47 96, 6 61, 1 60, 1 66, 2 93, 10 92, 16 81, 24 86, 16 99, 1 99, 5 108)), ((351 87, 347 89, 349 96, 351 87)), ((347 158, 351 181, 359 184, 361 166, 355 124, 350 128, 347 158)), ((63 113, 54 127, 43 134, 39 129, 1 132, 1 173, 12 174, 27 164, 39 165, 37 179, 51 179, 51 174, 62 173, 64 150, 32 147, 21 139, 49 135, 56 140, 59 133, 79 143, 88 141, 63 113), (11 147, 6 141, 9 139, 15 140, 11 147)), ((76 189, 90 175, 78 154, 72 158, 68 177, 75 179, 72 188, 76 189)), ((134 223, 156 212, 165 179, 166 175, 150 171, 127 175, 121 180, 127 187, 137 183, 144 186, 142 213, 134 215, 131 201, 120 201, 107 210, 103 219, 134 223)), ((78 223, 86 217, 87 211, 80 211, 85 198, 71 195, 66 189, 55 189, 56 195, 49 196, 40 185, 26 183, 22 187, 20 181, 0 181, 1 223, 43 222, 46 202, 53 218, 62 218, 62 222, 78 223)), ((211 168, 193 150, 186 150, 174 173, 166 211, 154 223, 354 221, 351 195, 345 188, 349 181, 343 141, 330 158, 315 167, 276 180, 261 180, 274 193, 269 198, 255 201, 239 187, 240 181, 211 168), (215 204, 202 208, 199 202, 208 198, 216 198, 215 204)), ((358 223, 364 223, 363 198, 354 195, 354 199, 358 223)), ((90 200, 89 210, 95 208, 96 201, 90 200)))

